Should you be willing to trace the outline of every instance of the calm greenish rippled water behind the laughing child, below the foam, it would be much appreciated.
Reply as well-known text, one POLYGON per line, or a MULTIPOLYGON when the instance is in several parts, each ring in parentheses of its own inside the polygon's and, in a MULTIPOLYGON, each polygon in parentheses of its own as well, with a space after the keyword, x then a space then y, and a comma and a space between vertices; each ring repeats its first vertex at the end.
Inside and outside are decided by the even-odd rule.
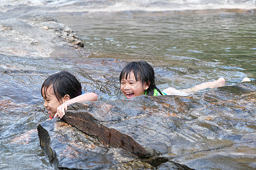
MULTIPOLYGON (((190 69, 197 73, 197 79, 192 76, 197 82, 220 76, 230 83, 255 78, 254 12, 89 12, 56 18, 84 39, 93 53, 89 57, 145 59, 169 71, 190 69)), ((191 78, 184 74, 165 78, 191 78)), ((187 88, 180 82, 169 85, 187 88)))

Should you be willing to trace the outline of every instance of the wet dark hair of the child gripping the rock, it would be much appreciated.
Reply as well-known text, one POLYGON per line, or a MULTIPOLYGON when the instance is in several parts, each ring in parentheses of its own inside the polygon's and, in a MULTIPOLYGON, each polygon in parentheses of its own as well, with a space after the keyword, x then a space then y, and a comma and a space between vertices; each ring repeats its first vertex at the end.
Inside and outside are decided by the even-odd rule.
POLYGON ((82 94, 81 83, 68 71, 60 71, 59 73, 49 76, 42 84, 42 96, 42 90, 44 90, 44 96, 48 95, 46 91, 50 86, 52 86, 54 95, 59 102, 65 95, 69 95, 69 97, 73 99, 82 94))

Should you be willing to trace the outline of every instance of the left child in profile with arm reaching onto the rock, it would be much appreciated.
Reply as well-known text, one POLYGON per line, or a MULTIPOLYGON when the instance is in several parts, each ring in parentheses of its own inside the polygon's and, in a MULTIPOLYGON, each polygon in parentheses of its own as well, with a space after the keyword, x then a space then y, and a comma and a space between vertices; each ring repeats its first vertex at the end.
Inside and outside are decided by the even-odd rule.
POLYGON ((42 84, 41 95, 51 119, 57 116, 62 118, 70 104, 98 99, 93 92, 82 94, 81 83, 68 71, 49 76, 42 84))

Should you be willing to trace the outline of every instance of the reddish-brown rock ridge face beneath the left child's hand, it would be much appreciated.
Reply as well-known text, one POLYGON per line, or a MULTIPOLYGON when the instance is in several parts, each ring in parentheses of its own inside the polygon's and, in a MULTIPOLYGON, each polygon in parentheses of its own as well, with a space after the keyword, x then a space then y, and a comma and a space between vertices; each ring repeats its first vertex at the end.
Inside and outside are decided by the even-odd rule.
POLYGON ((147 157, 146 150, 133 138, 113 128, 101 125, 92 114, 84 112, 84 105, 82 105, 82 111, 68 111, 63 120, 86 134, 96 136, 104 145, 124 148, 139 158, 147 157))

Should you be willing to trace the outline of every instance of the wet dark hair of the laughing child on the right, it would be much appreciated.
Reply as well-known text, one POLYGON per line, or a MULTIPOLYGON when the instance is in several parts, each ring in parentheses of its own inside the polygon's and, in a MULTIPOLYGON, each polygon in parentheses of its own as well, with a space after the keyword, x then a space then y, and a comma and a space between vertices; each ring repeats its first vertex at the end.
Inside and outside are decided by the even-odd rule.
POLYGON ((146 90, 147 95, 153 96, 154 89, 156 89, 161 95, 162 92, 159 88, 155 85, 155 72, 154 69, 148 64, 146 61, 139 61, 139 62, 129 62, 125 67, 123 67, 120 75, 119 75, 119 82, 121 84, 122 79, 127 79, 127 76, 133 71, 135 80, 141 81, 142 84, 145 82, 149 86, 146 90))

